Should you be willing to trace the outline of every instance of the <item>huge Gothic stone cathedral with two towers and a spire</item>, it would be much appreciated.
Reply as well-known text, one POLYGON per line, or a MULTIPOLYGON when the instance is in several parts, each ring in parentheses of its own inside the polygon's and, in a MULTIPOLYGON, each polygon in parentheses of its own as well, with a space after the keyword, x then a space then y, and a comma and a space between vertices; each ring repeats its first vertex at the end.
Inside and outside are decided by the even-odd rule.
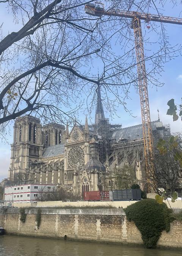
MULTIPOLYGON (((151 122, 154 140, 170 135, 169 127, 159 118, 151 122)), ((115 188, 115 172, 123 165, 134 168, 136 179, 145 179, 142 125, 122 128, 109 123, 104 116, 97 88, 94 125, 57 123, 42 125, 38 118, 17 118, 11 145, 8 178, 14 181, 17 173, 39 184, 60 184, 82 195, 84 191, 115 188)))

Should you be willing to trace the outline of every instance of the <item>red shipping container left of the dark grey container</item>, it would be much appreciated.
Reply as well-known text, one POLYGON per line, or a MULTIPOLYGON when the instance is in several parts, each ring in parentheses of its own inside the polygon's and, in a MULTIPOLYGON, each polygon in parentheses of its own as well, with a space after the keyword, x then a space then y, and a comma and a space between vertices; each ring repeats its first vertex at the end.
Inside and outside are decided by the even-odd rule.
POLYGON ((84 201, 104 201, 109 200, 108 191, 86 191, 83 194, 84 201))

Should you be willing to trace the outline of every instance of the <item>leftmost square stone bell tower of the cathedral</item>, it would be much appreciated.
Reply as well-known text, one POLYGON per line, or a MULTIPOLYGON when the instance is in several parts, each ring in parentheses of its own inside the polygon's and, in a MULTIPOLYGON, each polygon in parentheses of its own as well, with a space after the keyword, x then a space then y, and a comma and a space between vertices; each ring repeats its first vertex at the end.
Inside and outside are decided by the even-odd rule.
POLYGON ((31 163, 42 157, 40 120, 31 116, 19 117, 14 123, 13 144, 8 178, 13 181, 17 173, 24 173, 31 163))

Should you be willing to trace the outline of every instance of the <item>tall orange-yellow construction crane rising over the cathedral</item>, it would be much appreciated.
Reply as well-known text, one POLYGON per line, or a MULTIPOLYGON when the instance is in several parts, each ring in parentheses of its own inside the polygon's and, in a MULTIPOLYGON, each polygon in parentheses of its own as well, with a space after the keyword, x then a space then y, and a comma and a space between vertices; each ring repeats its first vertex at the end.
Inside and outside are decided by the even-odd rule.
MULTIPOLYGON (((144 153, 146 159, 146 174, 148 181, 154 174, 154 146, 152 138, 152 128, 151 128, 151 117, 149 109, 149 98, 147 90, 147 78, 144 60, 144 48, 143 48, 143 38, 141 31, 141 19, 145 20, 147 23, 150 21, 165 22, 172 24, 182 25, 181 18, 173 18, 168 16, 153 15, 150 13, 139 13, 136 11, 120 11, 120 10, 110 10, 105 11, 104 5, 102 3, 88 3, 85 5, 85 12, 93 16, 118 16, 132 19, 132 28, 134 30, 135 36, 135 48, 137 54, 137 69, 138 69, 138 86, 141 102, 141 117, 143 126, 143 140, 144 140, 144 153)), ((150 26, 148 25, 149 29, 150 26)), ((153 180, 154 182, 154 180, 153 180)))

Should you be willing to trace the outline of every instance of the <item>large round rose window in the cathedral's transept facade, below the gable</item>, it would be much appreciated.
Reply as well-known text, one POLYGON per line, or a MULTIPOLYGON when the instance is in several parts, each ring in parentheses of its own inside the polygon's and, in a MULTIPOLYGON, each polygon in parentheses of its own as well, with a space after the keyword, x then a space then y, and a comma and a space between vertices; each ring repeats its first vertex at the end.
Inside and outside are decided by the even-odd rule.
POLYGON ((74 146, 69 150, 68 153, 68 166, 70 168, 82 166, 84 164, 84 152, 79 146, 74 146))

